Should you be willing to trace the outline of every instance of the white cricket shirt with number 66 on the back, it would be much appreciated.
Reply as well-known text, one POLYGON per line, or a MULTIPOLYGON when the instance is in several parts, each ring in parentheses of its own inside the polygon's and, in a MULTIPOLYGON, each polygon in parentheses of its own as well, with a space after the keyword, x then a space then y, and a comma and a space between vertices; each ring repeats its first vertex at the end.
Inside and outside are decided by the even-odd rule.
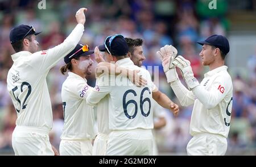
POLYGON ((90 91, 87 102, 96 104, 109 94, 110 130, 152 129, 152 90, 155 91, 156 87, 150 73, 134 65, 130 58, 118 60, 115 64, 132 70, 139 69, 142 77, 147 80, 147 85, 138 87, 127 77, 103 74, 97 78, 96 89, 90 91))

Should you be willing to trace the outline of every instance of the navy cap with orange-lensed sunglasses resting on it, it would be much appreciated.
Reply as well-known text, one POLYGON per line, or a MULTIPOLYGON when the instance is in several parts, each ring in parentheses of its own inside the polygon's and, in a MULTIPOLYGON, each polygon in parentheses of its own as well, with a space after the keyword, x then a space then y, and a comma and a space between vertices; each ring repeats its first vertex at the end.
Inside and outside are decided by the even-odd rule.
POLYGON ((88 56, 92 55, 93 53, 94 51, 89 50, 88 45, 77 44, 75 49, 73 49, 73 51, 71 51, 70 53, 68 53, 67 56, 64 57, 64 62, 68 64, 68 62, 70 62, 75 57, 88 56))

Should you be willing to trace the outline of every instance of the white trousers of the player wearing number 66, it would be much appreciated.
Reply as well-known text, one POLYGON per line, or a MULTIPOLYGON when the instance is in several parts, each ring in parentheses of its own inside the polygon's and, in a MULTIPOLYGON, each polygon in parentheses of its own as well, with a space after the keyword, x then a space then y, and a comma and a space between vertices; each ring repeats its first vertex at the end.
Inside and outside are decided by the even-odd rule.
POLYGON ((107 156, 152 156, 152 130, 112 131, 106 149, 107 156))

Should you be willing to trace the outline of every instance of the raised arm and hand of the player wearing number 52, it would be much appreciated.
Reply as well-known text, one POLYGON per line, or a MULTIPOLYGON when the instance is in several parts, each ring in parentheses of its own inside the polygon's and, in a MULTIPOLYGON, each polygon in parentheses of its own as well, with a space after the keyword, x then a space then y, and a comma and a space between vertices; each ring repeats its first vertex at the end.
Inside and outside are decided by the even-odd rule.
POLYGON ((34 66, 39 72, 45 72, 51 69, 58 61, 68 55, 79 43, 82 34, 84 32, 85 14, 87 11, 85 8, 81 8, 77 11, 76 20, 77 26, 73 29, 71 34, 64 40, 63 43, 48 49, 47 51, 36 52, 32 59, 31 65, 34 66))

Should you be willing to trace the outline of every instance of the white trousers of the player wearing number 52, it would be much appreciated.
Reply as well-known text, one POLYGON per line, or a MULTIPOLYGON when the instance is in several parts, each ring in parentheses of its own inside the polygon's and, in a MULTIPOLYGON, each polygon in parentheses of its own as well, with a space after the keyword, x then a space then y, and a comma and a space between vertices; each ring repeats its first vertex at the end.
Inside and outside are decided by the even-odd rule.
POLYGON ((15 156, 53 156, 49 131, 38 127, 16 126, 12 144, 15 156))

